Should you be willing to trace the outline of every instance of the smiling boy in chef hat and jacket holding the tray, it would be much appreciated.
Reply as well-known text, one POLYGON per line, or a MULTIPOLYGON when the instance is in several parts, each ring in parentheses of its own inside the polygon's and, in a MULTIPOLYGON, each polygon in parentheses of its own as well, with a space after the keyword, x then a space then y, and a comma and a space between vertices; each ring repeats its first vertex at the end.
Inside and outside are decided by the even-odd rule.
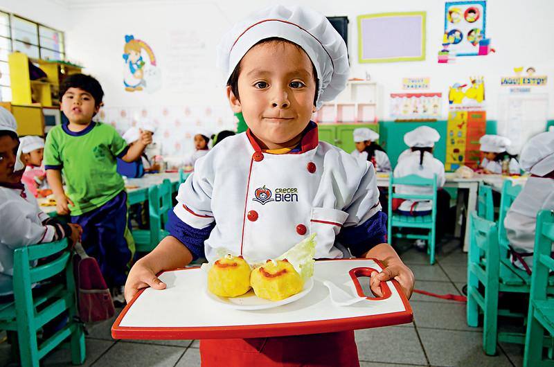
MULTIPOLYGON (((411 296, 413 274, 386 244, 375 171, 320 142, 310 121, 348 79, 346 45, 329 21, 301 6, 273 6, 235 25, 218 51, 231 108, 249 129, 196 162, 170 212, 170 235, 129 273, 127 301, 140 288, 165 288, 159 271, 204 255, 216 260, 220 247, 263 261, 310 233, 316 258, 343 258, 349 249, 384 260, 373 292, 395 278, 411 296)), ((202 366, 359 366, 352 331, 202 340, 200 352, 202 366)))

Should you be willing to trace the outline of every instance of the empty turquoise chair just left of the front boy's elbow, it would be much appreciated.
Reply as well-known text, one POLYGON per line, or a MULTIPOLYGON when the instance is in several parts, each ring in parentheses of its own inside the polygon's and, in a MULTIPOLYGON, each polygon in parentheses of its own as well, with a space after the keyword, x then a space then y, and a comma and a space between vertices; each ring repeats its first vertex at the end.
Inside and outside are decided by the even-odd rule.
POLYGON ((168 211, 173 208, 171 181, 164 179, 158 186, 148 188, 150 228, 132 231, 137 252, 150 252, 168 235, 163 228, 168 222, 168 211))

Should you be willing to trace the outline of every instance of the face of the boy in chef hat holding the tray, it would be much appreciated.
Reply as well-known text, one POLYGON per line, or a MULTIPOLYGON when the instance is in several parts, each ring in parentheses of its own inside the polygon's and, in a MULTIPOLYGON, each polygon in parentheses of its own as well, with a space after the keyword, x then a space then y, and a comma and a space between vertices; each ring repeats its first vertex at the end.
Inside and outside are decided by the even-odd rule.
POLYGON ((287 42, 266 42, 240 62, 240 100, 227 87, 231 108, 242 112, 253 134, 269 149, 290 147, 301 139, 315 111, 310 57, 287 42))

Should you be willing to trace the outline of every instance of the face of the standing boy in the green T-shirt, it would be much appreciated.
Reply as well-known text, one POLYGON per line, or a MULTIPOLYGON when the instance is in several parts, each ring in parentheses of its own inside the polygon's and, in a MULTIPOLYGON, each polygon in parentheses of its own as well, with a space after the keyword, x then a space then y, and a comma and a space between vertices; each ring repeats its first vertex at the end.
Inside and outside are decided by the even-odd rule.
POLYGON ((92 120, 92 116, 100 109, 100 106, 96 106, 91 93, 80 88, 71 87, 62 96, 60 109, 64 112, 70 123, 88 125, 92 120))

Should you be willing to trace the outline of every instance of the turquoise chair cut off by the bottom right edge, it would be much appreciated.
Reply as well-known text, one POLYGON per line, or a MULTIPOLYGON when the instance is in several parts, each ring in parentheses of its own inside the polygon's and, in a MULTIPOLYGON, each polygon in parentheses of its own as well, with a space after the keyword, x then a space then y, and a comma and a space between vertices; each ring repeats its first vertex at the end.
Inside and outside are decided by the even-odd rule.
POLYGON ((545 340, 544 333, 554 335, 554 296, 548 289, 551 283, 548 274, 554 271, 554 259, 551 258, 553 242, 554 211, 540 211, 535 231, 524 366, 554 366, 553 359, 543 358, 544 348, 552 348, 552 343, 545 340))

